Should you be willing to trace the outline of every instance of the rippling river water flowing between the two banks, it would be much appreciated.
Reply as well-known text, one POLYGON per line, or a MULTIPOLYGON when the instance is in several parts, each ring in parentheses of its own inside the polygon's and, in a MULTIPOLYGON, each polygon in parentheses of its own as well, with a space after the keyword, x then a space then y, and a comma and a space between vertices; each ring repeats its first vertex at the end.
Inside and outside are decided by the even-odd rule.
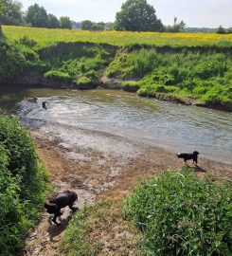
MULTIPOLYGON (((232 113, 137 97, 116 90, 0 88, 0 113, 17 115, 30 129, 76 143, 83 133, 116 136, 162 146, 176 153, 199 151, 207 158, 232 163, 232 113), (37 103, 24 101, 38 97, 37 103), (42 102, 48 101, 47 110, 42 102)), ((89 137, 82 144, 100 144, 89 137)), ((101 142, 114 149, 116 140, 101 142)), ((80 144, 79 144, 80 145, 80 144)), ((85 145, 85 146, 86 146, 85 145)), ((117 147, 118 149, 118 147, 117 147)), ((124 145, 123 152, 133 152, 124 145)))

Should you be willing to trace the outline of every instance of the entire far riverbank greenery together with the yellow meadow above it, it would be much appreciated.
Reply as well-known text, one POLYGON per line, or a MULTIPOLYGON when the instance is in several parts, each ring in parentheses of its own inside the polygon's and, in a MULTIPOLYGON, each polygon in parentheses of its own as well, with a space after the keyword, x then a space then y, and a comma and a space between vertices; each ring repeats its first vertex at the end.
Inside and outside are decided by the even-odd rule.
POLYGON ((232 36, 3 27, 0 83, 122 88, 232 110, 232 36), (13 65, 12 65, 13 63, 13 65))

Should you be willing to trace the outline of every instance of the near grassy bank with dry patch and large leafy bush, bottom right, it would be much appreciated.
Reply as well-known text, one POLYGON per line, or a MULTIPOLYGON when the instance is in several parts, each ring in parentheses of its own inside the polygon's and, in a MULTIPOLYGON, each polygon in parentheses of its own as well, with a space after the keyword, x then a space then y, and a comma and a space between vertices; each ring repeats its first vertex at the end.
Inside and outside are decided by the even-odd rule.
POLYGON ((231 182, 167 171, 141 183, 122 205, 99 202, 75 214, 62 254, 229 256, 231 192, 231 182))

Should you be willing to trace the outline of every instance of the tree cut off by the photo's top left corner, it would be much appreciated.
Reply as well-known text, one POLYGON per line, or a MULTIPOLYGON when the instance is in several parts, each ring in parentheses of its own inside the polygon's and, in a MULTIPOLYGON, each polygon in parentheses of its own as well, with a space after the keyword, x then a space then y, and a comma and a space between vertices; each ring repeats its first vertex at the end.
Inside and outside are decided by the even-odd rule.
POLYGON ((22 4, 12 0, 0 1, 0 24, 20 25, 22 22, 22 4))

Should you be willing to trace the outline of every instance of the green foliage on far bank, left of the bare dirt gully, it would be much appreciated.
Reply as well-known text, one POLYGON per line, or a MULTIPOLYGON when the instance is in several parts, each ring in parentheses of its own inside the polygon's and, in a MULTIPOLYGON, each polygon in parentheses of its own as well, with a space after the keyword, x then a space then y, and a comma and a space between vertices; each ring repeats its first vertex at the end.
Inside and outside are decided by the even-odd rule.
POLYGON ((69 81, 81 86, 97 84, 104 66, 112 58, 112 54, 102 46, 88 45, 56 46, 49 48, 43 55, 45 63, 53 69, 51 73, 45 74, 45 78, 52 81, 56 76, 58 78, 65 74, 69 81))

